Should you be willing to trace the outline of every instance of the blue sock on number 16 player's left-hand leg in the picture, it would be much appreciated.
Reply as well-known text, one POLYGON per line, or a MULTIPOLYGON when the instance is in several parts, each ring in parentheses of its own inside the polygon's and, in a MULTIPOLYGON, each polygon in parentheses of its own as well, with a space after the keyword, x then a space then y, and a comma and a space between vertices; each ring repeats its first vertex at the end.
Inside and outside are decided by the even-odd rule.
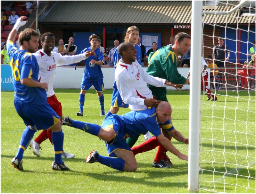
POLYGON ((33 127, 27 126, 26 129, 23 131, 21 140, 19 143, 19 149, 16 154, 16 157, 21 161, 23 159, 23 153, 27 149, 29 143, 31 142, 35 132, 37 130, 34 130, 33 127))

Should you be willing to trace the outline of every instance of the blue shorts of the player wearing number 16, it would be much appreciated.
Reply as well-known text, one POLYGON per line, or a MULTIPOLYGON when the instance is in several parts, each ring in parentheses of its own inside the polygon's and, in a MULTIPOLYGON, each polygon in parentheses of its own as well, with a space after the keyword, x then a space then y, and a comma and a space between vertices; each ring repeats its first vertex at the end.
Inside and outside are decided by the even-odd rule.
POLYGON ((35 125, 37 130, 50 129, 60 121, 60 117, 48 103, 32 106, 15 99, 14 107, 25 125, 35 125))

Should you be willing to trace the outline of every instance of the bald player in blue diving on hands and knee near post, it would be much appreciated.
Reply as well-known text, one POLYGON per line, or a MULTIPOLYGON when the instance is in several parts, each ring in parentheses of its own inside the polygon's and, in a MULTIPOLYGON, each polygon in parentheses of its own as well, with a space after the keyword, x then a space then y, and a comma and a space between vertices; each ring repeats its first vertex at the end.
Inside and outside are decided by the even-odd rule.
POLYGON ((81 129, 105 141, 110 157, 101 156, 97 151, 93 150, 86 158, 86 162, 100 162, 117 170, 135 171, 138 168, 138 164, 131 148, 126 143, 126 138, 139 136, 147 131, 155 135, 157 140, 168 151, 182 160, 188 160, 188 156, 177 150, 159 128, 159 126, 162 126, 167 131, 170 131, 177 141, 188 144, 189 140, 184 138, 172 126, 169 120, 171 114, 171 105, 168 102, 160 102, 157 108, 135 110, 120 116, 116 114, 110 115, 104 120, 101 127, 97 124, 74 121, 69 117, 63 118, 63 125, 81 129))

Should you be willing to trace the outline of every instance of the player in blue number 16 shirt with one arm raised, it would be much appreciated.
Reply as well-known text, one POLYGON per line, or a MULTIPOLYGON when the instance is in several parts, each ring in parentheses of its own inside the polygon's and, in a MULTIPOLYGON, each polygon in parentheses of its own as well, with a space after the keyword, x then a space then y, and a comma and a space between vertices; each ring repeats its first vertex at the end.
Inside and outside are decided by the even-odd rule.
POLYGON ((26 28, 19 34, 20 48, 15 45, 15 37, 19 27, 26 24, 27 17, 20 17, 11 30, 7 40, 7 50, 11 60, 14 83, 14 106, 23 119, 26 129, 22 133, 18 152, 11 161, 14 168, 23 170, 23 153, 27 149, 37 130, 52 129, 52 143, 55 152, 53 170, 69 170, 61 159, 64 133, 61 129, 60 117, 47 103, 48 84, 39 82, 39 59, 35 53, 39 47, 40 34, 26 28))

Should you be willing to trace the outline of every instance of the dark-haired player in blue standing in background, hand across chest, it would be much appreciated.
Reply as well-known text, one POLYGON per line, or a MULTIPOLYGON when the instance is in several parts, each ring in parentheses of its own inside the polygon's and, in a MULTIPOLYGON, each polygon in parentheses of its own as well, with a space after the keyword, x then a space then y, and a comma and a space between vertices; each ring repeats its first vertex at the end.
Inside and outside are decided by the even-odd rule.
POLYGON ((105 115, 104 109, 104 95, 102 91, 104 90, 103 83, 103 74, 101 71, 101 65, 104 65, 103 62, 103 53, 97 47, 97 43, 99 41, 99 37, 96 34, 93 34, 89 38, 91 46, 85 48, 82 52, 86 51, 94 51, 95 55, 89 56, 84 60, 84 74, 81 82, 81 92, 79 98, 79 112, 76 113, 77 116, 83 116, 83 107, 85 101, 86 91, 93 85, 100 101, 100 115, 105 115))

